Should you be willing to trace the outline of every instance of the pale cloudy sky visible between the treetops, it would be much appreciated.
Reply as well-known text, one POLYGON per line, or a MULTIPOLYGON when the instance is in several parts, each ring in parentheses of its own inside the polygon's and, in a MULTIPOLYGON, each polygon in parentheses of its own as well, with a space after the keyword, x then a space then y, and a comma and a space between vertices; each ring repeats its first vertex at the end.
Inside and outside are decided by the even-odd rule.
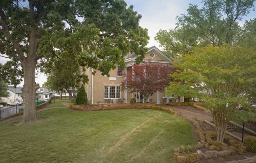
MULTIPOLYGON (((189 4, 197 4, 202 6, 201 0, 125 0, 129 5, 133 5, 133 9, 142 15, 140 25, 143 28, 148 29, 148 35, 150 40, 148 47, 156 46, 159 48, 159 44, 154 40, 155 34, 160 29, 173 29, 175 27, 176 16, 185 13, 189 4)), ((256 2, 254 2, 256 6, 256 2)), ((240 25, 243 25, 245 20, 249 20, 256 17, 256 11, 251 11, 240 25)), ((161 49, 161 48, 160 48, 161 49)), ((0 63, 5 63, 6 58, 0 57, 0 63)), ((47 76, 43 73, 39 73, 36 76, 36 82, 40 84, 40 87, 46 82, 47 76)), ((22 82, 19 86, 22 86, 22 82)))

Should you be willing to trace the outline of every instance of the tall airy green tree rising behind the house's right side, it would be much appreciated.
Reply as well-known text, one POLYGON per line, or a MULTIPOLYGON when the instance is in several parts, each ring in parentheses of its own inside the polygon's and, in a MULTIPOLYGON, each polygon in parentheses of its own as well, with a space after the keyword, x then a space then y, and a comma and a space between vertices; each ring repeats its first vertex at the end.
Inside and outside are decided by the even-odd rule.
POLYGON ((176 28, 160 30, 155 36, 170 56, 193 53, 198 45, 234 43, 238 21, 254 9, 254 0, 203 0, 203 7, 190 4, 187 14, 177 16, 176 28))

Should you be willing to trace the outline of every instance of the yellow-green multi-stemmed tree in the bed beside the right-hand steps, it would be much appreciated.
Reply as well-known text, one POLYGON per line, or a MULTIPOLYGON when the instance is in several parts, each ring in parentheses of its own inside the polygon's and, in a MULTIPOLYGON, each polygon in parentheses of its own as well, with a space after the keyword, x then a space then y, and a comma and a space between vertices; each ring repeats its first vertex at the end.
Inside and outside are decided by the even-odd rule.
POLYGON ((184 54, 183 62, 174 63, 177 71, 171 76, 168 89, 201 98, 210 110, 216 125, 217 141, 223 142, 227 123, 239 105, 248 105, 246 94, 255 87, 256 51, 252 48, 197 47, 184 54))

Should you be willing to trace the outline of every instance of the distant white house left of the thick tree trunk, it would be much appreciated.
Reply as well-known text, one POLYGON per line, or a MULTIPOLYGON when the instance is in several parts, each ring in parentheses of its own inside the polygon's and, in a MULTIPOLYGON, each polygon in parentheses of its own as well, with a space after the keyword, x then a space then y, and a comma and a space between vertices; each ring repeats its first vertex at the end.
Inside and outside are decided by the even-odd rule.
MULTIPOLYGON (((7 102, 10 103, 12 101, 17 101, 17 100, 22 100, 22 91, 21 88, 7 88, 7 91, 9 92, 9 97, 8 98, 4 98, 2 97, 2 102, 7 102)), ((38 91, 36 92, 36 94, 39 93, 38 91)))

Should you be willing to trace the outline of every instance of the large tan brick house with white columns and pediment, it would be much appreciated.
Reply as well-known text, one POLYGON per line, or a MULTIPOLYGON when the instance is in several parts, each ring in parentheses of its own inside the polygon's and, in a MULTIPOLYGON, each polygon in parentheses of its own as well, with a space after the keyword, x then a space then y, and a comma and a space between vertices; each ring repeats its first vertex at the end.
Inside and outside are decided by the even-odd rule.
MULTIPOLYGON (((132 72, 132 65, 135 64, 135 56, 130 55, 125 60, 125 73, 132 72)), ((157 47, 153 46, 148 49, 148 52, 145 54, 144 62, 153 62, 153 63, 163 63, 170 64, 173 62, 168 56, 166 56, 162 51, 157 47)), ((117 65, 117 69, 111 70, 109 72, 110 77, 102 76, 101 72, 96 71, 95 75, 92 75, 94 70, 86 68, 84 74, 88 75, 89 82, 84 85, 88 96, 89 103, 106 103, 110 99, 113 103, 118 103, 123 101, 129 103, 132 98, 135 98, 137 102, 143 102, 143 96, 139 92, 121 91, 121 83, 124 80, 123 71, 121 67, 117 65)), ((150 96, 148 101, 151 103, 161 103, 169 102, 171 96, 167 96, 165 92, 155 92, 153 96, 150 96)), ((184 98, 181 97, 181 102, 184 101, 184 98)))

